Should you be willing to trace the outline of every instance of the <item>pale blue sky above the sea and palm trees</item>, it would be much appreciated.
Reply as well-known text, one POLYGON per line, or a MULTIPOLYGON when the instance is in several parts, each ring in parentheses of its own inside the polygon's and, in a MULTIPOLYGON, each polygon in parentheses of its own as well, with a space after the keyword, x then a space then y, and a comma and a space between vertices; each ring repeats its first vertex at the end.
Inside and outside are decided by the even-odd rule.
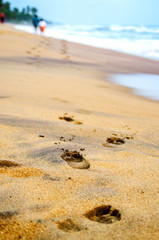
POLYGON ((36 7, 47 20, 65 24, 159 25, 159 0, 8 0, 36 7))

